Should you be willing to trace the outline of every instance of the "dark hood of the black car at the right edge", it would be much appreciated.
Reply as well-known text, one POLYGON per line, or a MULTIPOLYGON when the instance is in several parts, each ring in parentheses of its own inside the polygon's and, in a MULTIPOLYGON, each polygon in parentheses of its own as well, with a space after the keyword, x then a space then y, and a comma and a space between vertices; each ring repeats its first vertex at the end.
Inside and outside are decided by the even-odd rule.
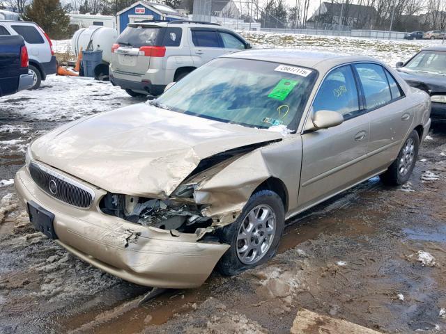
POLYGON ((416 72, 404 68, 398 68, 397 71, 412 87, 424 90, 426 93, 429 93, 428 90, 431 90, 431 93, 446 93, 445 75, 416 72))

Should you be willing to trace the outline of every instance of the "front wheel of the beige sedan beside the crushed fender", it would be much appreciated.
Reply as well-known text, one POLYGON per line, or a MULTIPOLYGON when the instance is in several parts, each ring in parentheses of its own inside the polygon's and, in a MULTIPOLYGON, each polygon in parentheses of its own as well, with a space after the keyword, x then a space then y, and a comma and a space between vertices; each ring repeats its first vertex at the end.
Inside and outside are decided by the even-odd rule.
POLYGON ((231 248, 226 250, 226 253, 224 253, 217 263, 217 269, 225 276, 233 276, 268 261, 277 251, 277 246, 279 246, 280 238, 284 232, 284 225, 284 204, 277 193, 270 190, 262 190, 254 193, 249 198, 243 212, 237 220, 230 225, 224 226, 220 230, 220 241, 225 244, 230 244, 231 248), (268 216, 270 217, 268 221, 260 222, 255 220, 255 223, 258 225, 254 225, 247 232, 247 228, 252 224, 249 217, 253 218, 253 216, 250 214, 253 213, 254 215, 262 216, 266 212, 265 209, 270 210, 270 213, 266 216, 266 218, 268 216), (275 221, 272 219, 275 219, 275 221), (238 240, 238 235, 243 233, 245 235, 248 234, 248 238, 238 240), (268 233, 271 233, 269 242, 268 237, 264 237, 265 235, 268 236, 268 233), (262 238, 262 241, 259 242, 260 238, 262 238), (258 248, 254 250, 252 246, 258 248), (240 251, 245 247, 248 250, 245 250, 245 252, 240 251), (262 248, 264 249, 262 250, 262 248), (259 255, 257 255, 258 252, 260 252, 259 255))

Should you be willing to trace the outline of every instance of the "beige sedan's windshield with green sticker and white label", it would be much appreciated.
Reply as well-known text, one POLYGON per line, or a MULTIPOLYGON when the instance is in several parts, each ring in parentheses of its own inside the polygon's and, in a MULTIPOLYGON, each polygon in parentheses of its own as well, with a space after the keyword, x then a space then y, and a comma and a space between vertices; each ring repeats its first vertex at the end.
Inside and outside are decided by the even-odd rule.
POLYGON ((161 108, 248 127, 295 129, 315 70, 266 61, 218 58, 161 95, 161 108))

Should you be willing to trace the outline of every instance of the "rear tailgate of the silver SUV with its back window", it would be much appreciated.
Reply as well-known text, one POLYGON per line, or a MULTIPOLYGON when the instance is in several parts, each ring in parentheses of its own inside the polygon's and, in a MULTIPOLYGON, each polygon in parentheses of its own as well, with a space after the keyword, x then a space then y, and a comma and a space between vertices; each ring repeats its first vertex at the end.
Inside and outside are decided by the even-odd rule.
POLYGON ((151 57, 164 56, 161 45, 160 26, 127 26, 118 36, 112 56, 113 68, 117 72, 143 75, 151 64, 151 57))

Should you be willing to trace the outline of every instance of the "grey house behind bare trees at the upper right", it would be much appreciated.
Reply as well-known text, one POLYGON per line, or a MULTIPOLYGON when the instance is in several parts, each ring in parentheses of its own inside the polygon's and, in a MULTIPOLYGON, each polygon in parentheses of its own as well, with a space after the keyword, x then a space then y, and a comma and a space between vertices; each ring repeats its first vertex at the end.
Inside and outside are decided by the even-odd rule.
POLYGON ((372 6, 323 2, 307 20, 307 27, 335 29, 336 26, 344 26, 349 29, 373 29, 376 13, 372 6))

